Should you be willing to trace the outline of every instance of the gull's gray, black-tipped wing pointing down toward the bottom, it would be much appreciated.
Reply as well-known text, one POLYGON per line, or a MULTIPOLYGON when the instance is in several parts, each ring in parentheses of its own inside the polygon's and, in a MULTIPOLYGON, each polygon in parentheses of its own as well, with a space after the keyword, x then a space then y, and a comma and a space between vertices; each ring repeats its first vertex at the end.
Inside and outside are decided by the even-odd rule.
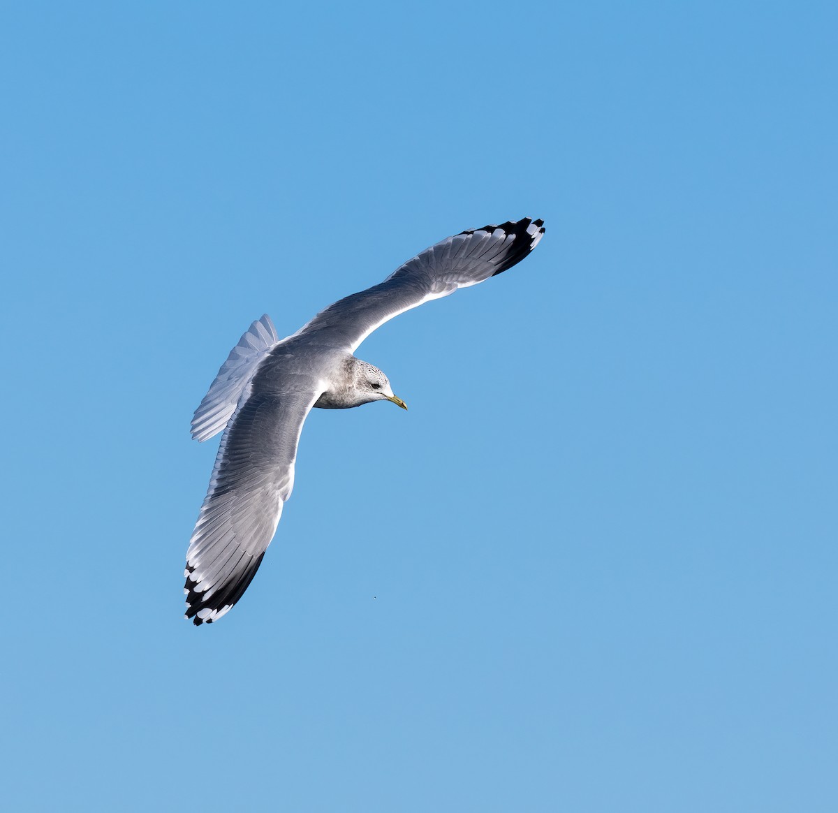
POLYGON ((230 420, 186 554, 186 618, 194 624, 220 619, 256 575, 291 496, 300 432, 319 395, 255 392, 230 420))

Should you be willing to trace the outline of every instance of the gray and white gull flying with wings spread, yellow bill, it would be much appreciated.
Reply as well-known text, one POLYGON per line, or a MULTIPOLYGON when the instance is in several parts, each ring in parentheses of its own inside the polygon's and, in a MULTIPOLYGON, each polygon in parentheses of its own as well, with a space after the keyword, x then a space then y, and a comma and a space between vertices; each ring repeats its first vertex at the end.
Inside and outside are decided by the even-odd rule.
POLYGON ((544 221, 530 218, 462 231, 384 282, 329 305, 286 339, 267 315, 251 324, 192 419, 196 440, 224 435, 186 554, 187 619, 217 621, 256 575, 291 496, 312 407, 391 401, 407 409, 381 370, 355 358, 360 343, 399 313, 513 267, 543 234, 544 221))

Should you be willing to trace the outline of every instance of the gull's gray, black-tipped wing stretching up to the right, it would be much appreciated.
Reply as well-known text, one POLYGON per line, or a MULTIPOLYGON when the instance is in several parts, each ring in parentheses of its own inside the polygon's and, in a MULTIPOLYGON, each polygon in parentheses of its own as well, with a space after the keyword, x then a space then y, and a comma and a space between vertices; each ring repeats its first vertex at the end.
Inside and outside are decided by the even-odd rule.
POLYGON ((296 335, 354 353, 373 330, 399 313, 513 267, 543 234, 544 221, 527 217, 447 237, 398 267, 379 285, 329 305, 296 335))

